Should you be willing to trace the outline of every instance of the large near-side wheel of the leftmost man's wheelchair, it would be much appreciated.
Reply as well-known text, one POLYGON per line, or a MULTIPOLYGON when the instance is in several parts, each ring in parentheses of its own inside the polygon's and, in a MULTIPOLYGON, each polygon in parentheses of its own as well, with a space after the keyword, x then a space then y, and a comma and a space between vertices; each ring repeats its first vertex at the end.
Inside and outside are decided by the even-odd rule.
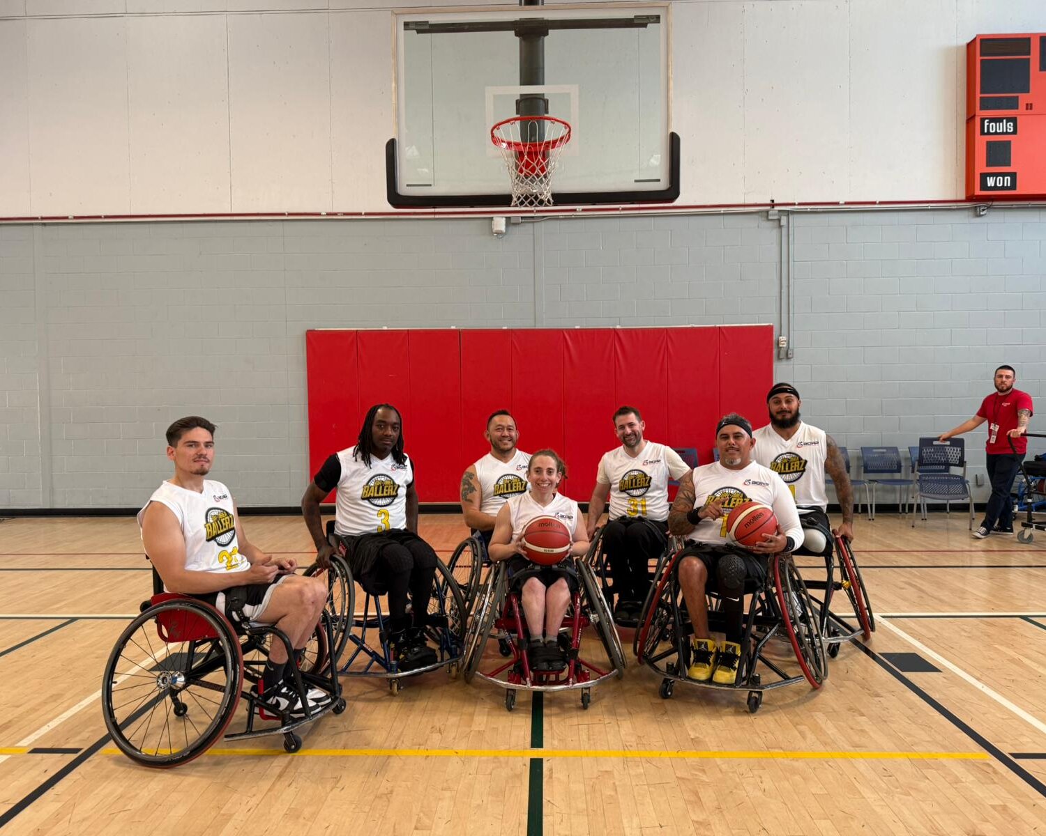
POLYGON ((240 702, 240 640, 217 609, 174 599, 120 634, 101 681, 106 728, 142 766, 188 763, 222 738, 240 702))

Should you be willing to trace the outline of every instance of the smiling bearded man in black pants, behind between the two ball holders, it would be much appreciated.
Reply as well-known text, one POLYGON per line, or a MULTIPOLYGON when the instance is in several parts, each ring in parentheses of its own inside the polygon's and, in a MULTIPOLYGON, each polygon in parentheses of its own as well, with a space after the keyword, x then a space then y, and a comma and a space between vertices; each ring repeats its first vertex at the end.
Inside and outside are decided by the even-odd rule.
POLYGON ((680 479, 690 468, 672 447, 643 438, 646 422, 635 407, 618 408, 613 421, 621 446, 599 460, 589 500, 588 538, 595 536, 609 497, 602 550, 617 596, 614 621, 634 627, 650 588, 650 561, 660 557, 668 543, 668 479, 680 479))

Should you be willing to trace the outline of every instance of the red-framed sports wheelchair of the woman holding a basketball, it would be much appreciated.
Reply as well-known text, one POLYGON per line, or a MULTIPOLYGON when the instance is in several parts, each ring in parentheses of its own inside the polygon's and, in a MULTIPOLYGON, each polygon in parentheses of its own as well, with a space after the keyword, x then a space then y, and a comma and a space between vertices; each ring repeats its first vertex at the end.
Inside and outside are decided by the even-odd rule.
MULTIPOLYGON (((591 551, 590 551, 591 554, 591 551)), ((599 591, 595 575, 589 565, 590 555, 576 561, 579 588, 573 593, 567 614, 560 628, 560 647, 566 652, 566 666, 553 671, 531 670, 526 655, 526 622, 519 593, 508 588, 505 563, 496 563, 476 595, 476 608, 465 635, 464 680, 479 676, 505 689, 505 709, 516 707, 516 692, 573 691, 582 692, 582 707, 592 701, 592 687, 611 676, 624 675, 624 653, 610 609, 599 591), (595 628, 610 669, 602 670, 581 656, 582 631, 595 628), (487 640, 495 635, 506 661, 485 673, 480 671, 487 640)))

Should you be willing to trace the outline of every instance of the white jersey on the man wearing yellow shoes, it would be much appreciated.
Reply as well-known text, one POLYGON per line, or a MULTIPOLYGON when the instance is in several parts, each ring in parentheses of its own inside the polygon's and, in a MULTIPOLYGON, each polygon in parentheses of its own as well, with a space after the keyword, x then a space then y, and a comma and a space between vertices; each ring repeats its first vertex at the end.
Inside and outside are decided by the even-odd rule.
POLYGON ((749 462, 742 470, 730 470, 719 462, 696 467, 693 495, 695 508, 719 500, 723 506, 723 516, 720 519, 702 519, 686 535, 688 540, 715 545, 728 542, 726 520, 730 510, 752 500, 773 508, 780 533, 791 537, 793 543, 802 543, 802 527, 799 525, 799 512, 792 492, 769 467, 756 462, 749 462))

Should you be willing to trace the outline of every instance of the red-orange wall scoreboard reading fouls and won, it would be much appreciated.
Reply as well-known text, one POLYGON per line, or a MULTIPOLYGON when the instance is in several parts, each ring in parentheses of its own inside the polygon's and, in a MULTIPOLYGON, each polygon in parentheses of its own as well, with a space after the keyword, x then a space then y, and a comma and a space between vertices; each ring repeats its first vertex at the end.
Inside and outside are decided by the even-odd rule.
POLYGON ((1046 198, 1046 33, 967 44, 967 198, 1046 198))

